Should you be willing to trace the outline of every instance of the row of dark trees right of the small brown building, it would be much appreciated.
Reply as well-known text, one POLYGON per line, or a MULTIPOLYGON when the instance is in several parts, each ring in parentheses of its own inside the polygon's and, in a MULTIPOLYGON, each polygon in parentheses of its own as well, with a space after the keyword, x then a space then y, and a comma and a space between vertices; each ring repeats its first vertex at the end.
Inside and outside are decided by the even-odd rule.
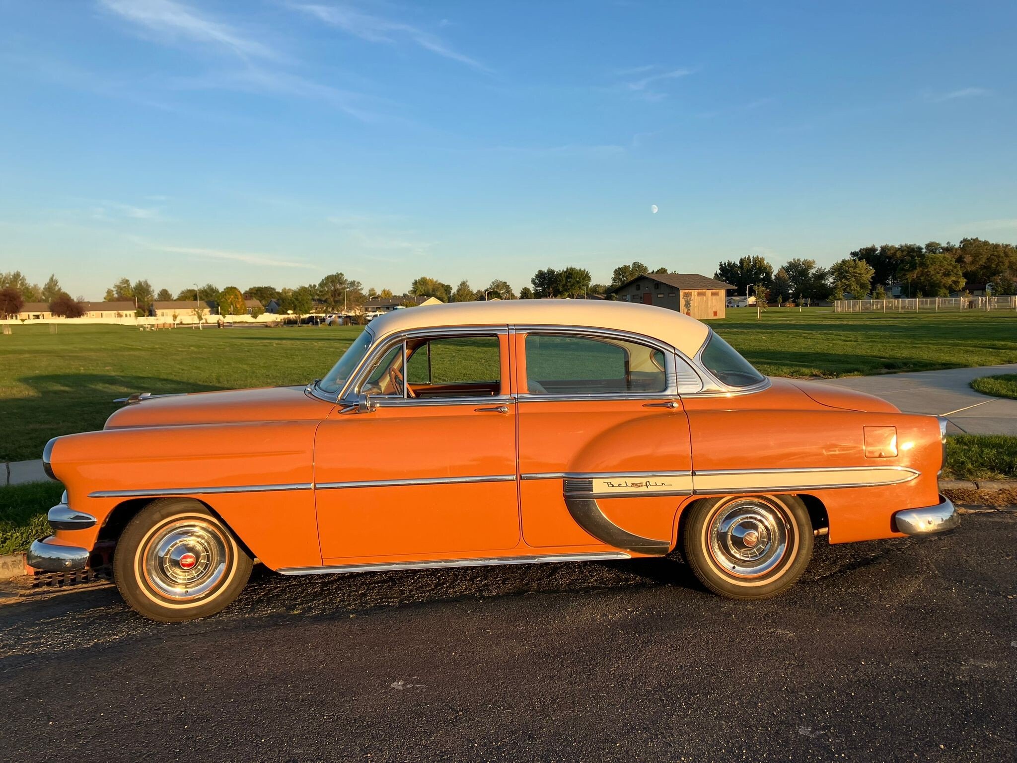
POLYGON ((966 286, 1011 295, 1017 286, 1017 246, 965 238, 958 244, 872 244, 829 269, 790 259, 774 273, 762 256, 722 261, 714 278, 764 300, 886 299, 893 287, 906 297, 945 297, 966 286))

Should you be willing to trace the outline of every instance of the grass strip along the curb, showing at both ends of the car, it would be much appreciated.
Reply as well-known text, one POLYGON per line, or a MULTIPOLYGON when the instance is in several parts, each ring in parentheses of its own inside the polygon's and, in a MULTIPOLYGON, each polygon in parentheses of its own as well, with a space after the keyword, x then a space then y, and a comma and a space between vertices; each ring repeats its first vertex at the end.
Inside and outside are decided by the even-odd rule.
MULTIPOLYGON (((1017 479, 1017 437, 958 434, 947 438, 944 479, 1017 479)), ((0 553, 23 551, 50 534, 46 513, 60 501, 59 482, 0 487, 0 553)))

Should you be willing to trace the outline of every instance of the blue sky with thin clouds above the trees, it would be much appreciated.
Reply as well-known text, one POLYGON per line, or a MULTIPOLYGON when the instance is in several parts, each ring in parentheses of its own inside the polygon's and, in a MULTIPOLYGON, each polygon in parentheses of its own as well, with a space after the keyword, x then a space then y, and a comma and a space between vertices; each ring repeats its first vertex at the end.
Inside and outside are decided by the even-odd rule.
POLYGON ((0 271, 518 290, 1017 241, 1014 28, 1013 2, 0 0, 0 271))

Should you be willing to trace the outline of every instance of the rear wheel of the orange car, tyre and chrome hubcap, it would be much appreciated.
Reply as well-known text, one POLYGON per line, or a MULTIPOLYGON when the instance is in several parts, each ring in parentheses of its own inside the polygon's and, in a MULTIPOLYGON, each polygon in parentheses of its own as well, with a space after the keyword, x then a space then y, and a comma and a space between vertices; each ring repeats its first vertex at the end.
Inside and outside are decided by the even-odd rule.
POLYGON ((721 596, 776 596, 812 559, 809 510, 793 495, 707 498, 687 511, 685 560, 700 582, 721 596))

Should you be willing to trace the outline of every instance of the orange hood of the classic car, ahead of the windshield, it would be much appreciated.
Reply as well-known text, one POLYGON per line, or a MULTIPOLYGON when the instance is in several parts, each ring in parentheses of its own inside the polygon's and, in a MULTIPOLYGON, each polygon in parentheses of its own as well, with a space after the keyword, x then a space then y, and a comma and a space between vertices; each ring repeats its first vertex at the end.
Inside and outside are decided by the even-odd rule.
POLYGON ((154 396, 116 411, 106 428, 322 419, 333 407, 305 395, 303 387, 154 396))

